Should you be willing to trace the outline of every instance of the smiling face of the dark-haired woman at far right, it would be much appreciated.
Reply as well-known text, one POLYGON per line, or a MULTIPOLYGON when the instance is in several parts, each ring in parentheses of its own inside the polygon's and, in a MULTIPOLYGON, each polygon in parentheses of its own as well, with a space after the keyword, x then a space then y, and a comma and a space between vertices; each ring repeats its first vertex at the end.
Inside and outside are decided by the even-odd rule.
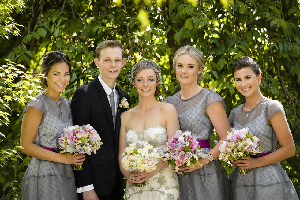
POLYGON ((234 72, 235 87, 245 97, 251 97, 259 93, 259 81, 261 74, 258 76, 250 67, 243 67, 234 72))

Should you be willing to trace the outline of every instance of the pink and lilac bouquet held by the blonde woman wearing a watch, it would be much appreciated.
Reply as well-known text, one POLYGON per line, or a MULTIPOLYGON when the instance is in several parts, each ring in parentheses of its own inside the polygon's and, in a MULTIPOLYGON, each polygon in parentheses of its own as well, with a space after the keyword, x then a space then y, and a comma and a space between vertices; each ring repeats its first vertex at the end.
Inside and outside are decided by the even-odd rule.
MULTIPOLYGON (((167 145, 163 148, 163 152, 160 153, 162 160, 171 165, 175 172, 179 171, 179 167, 191 167, 195 165, 202 165, 198 159, 207 158, 199 146, 197 136, 192 135, 190 131, 181 132, 177 130, 176 134, 168 139, 167 145)), ((189 174, 189 172, 183 172, 182 174, 189 174)))

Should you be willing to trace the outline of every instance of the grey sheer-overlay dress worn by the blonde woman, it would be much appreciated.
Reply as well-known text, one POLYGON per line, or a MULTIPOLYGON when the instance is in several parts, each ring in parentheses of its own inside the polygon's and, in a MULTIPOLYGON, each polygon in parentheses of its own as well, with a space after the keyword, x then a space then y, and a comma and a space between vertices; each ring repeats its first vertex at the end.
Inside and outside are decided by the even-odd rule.
MULTIPOLYGON (((175 106, 182 131, 190 130, 192 134, 197 135, 198 140, 208 141, 213 133, 213 126, 206 115, 206 108, 217 101, 222 101, 225 105, 221 96, 205 88, 188 101, 181 100, 179 92, 164 100, 175 106), (185 106, 182 105, 182 101, 185 106)), ((201 149, 204 153, 211 150, 201 149)), ((227 174, 218 159, 190 172, 189 175, 178 174, 178 180, 181 200, 229 199, 227 174)))

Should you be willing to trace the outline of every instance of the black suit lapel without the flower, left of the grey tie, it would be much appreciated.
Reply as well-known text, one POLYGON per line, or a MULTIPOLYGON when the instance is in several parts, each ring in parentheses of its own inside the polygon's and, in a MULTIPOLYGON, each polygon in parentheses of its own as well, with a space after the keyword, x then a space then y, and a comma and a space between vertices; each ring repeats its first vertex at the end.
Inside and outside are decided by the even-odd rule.
POLYGON ((105 114, 107 116, 107 120, 109 122, 109 125, 111 127, 111 132, 113 133, 113 136, 115 138, 115 129, 114 129, 114 121, 113 121, 113 118, 112 118, 112 114, 111 114, 111 106, 109 104, 109 101, 107 99, 107 95, 105 93, 105 90, 103 89, 103 86, 101 85, 98 77, 96 77, 94 79, 94 83, 96 85, 96 88, 97 88, 97 91, 98 91, 98 96, 102 102, 102 105, 103 105, 103 108, 104 108, 104 111, 105 111, 105 114))

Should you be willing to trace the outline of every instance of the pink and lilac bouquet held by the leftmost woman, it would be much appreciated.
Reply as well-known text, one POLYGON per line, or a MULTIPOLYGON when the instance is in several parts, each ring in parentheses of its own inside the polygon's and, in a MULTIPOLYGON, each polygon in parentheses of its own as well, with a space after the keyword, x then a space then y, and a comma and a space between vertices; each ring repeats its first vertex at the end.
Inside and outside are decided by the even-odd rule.
MULTIPOLYGON (((80 155, 91 152, 97 153, 100 149, 101 138, 97 131, 91 125, 69 126, 64 128, 64 133, 58 138, 60 153, 78 153, 80 155)), ((68 155, 68 154, 67 154, 68 155)), ((81 170, 82 165, 73 165, 74 170, 81 170)))

